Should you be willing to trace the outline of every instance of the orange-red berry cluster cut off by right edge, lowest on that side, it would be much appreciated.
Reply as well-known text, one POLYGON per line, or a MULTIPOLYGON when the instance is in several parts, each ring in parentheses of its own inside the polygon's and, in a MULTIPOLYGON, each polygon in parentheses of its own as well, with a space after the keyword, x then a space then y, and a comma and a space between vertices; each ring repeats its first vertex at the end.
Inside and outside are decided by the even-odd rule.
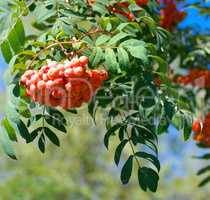
POLYGON ((210 113, 206 115, 203 121, 196 120, 193 123, 192 131, 195 133, 195 141, 210 146, 210 113))

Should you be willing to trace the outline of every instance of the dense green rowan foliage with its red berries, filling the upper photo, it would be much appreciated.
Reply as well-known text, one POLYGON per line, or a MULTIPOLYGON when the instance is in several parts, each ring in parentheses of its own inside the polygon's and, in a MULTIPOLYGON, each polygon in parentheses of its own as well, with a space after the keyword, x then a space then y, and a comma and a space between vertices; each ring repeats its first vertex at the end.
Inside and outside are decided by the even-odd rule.
MULTIPOLYGON (((89 102, 94 121, 98 109, 106 112, 107 149, 112 136, 119 138, 116 165, 130 147, 122 183, 129 182, 136 165, 140 187, 155 192, 158 135, 173 124, 187 140, 193 114, 208 112, 206 84, 177 83, 183 83, 182 69, 207 69, 209 36, 179 31, 176 26, 186 14, 172 0, 5 0, 0 9, 1 50, 9 64, 0 134, 5 152, 16 159, 11 143, 17 135, 26 143, 36 140, 43 153, 47 140, 59 146, 59 133, 68 132, 66 117, 89 102), (200 90, 206 92, 202 105, 200 90)), ((193 81, 203 80, 196 74, 201 75, 193 81)))

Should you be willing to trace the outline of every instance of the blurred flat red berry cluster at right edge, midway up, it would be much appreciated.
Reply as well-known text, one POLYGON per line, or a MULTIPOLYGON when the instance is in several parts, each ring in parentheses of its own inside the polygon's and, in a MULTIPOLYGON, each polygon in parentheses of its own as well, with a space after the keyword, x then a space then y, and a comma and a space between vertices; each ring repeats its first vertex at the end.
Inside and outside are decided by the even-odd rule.
POLYGON ((179 76, 177 83, 193 85, 199 88, 210 88, 210 71, 200 69, 190 69, 186 76, 179 76))

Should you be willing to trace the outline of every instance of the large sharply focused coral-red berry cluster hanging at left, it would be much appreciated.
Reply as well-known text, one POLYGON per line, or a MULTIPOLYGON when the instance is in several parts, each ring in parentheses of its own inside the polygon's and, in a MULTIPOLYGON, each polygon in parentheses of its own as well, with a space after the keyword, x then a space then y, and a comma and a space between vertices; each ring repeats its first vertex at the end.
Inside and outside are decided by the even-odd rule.
POLYGON ((40 104, 64 109, 80 107, 108 79, 105 70, 87 69, 88 57, 74 57, 63 64, 55 61, 37 70, 27 70, 21 77, 26 95, 40 104))

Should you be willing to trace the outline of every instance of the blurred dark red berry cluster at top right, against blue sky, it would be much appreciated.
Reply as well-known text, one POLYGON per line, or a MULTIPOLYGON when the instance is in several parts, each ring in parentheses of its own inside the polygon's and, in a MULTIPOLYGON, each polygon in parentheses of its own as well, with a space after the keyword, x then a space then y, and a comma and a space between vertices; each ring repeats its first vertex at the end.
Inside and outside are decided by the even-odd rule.
POLYGON ((171 31, 185 18, 186 13, 177 9, 174 0, 162 0, 161 2, 164 8, 160 10, 160 26, 171 31))

